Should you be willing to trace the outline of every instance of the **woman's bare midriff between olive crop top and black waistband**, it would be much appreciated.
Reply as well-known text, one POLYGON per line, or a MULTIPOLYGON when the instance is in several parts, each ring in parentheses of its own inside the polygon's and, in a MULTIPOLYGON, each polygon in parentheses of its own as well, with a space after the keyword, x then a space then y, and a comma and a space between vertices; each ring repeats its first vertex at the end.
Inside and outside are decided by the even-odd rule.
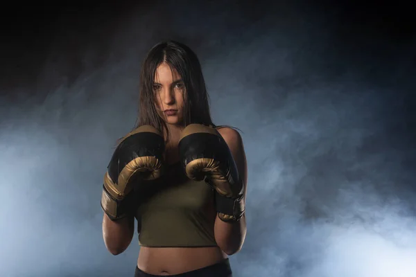
POLYGON ((147 274, 175 275, 215 265, 225 258, 219 247, 141 247, 137 267, 147 274))

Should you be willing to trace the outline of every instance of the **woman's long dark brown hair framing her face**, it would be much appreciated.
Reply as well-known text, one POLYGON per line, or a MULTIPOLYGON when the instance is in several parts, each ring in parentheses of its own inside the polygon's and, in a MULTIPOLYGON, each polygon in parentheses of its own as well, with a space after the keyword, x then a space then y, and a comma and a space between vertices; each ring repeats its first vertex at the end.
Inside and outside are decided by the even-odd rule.
POLYGON ((169 138, 168 127, 157 114, 153 93, 153 82, 157 66, 166 62, 171 69, 175 69, 182 77, 186 96, 184 96, 184 126, 191 123, 214 125, 209 111, 209 96, 205 86, 204 76, 196 53, 191 48, 179 42, 161 42, 153 46, 148 52, 141 66, 139 80, 139 116, 135 128, 142 125, 152 125, 159 132, 166 131, 169 138))

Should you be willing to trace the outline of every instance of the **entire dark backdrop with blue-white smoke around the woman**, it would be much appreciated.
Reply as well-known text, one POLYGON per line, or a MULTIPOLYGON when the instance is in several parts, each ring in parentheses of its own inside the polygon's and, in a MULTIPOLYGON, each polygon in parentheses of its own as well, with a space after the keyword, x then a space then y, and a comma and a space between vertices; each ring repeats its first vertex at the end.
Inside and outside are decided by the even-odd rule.
POLYGON ((200 57, 248 157, 235 276, 416 275, 415 17, 401 1, 10 2, 1 9, 0 275, 132 276, 103 244, 103 172, 140 64, 200 57))

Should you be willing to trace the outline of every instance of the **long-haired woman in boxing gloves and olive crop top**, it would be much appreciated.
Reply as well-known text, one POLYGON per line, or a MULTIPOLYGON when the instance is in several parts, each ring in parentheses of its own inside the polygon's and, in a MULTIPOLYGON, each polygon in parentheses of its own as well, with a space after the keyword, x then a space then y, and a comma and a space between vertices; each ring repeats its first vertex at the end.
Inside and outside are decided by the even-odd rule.
POLYGON ((135 276, 232 276, 246 233, 247 163, 239 132, 214 125, 198 57, 154 46, 141 69, 139 118, 107 168, 103 238, 114 255, 139 232, 135 276))

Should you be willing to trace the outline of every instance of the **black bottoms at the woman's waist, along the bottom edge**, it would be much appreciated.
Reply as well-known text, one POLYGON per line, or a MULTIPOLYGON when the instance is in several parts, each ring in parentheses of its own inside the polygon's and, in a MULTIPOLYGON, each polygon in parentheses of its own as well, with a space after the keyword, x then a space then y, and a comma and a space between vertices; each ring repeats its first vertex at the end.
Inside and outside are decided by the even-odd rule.
MULTIPOLYGON (((136 266, 135 277, 157 277, 161 275, 147 274, 144 271, 141 271, 136 266)), ((202 267, 201 269, 196 269, 193 271, 188 271, 182 274, 168 275, 175 277, 232 277, 231 267, 229 265, 229 260, 225 259, 222 262, 218 262, 215 265, 210 265, 209 267, 202 267)))

